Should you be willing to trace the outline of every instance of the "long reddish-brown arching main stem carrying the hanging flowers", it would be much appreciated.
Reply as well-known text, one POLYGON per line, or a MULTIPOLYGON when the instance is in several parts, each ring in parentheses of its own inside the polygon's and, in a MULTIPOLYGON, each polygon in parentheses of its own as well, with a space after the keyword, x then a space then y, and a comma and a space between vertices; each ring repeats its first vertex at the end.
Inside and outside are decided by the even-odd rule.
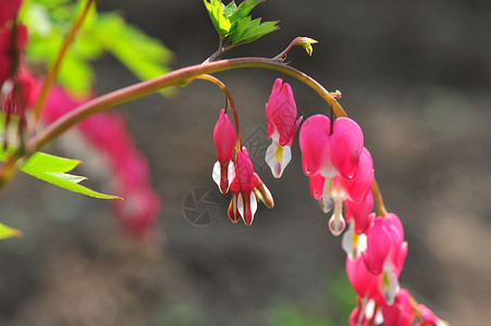
MULTIPOLYGON (((28 158, 32 153, 40 150, 81 121, 96 113, 145 97, 165 87, 185 85, 186 82, 192 80, 199 75, 245 67, 267 68, 285 73, 312 88, 333 108, 337 116, 347 116, 346 112, 344 112, 343 108, 341 108, 335 98, 330 95, 317 80, 284 63, 266 58, 220 60, 208 64, 198 64, 173 71, 160 77, 112 91, 86 102, 77 109, 63 115, 54 123, 50 124, 47 128, 36 135, 36 137, 33 137, 27 143, 28 150, 26 150, 24 156, 28 158)), ((15 168, 16 161, 20 158, 22 158, 22 155, 20 155, 19 152, 14 152, 0 168, 0 189, 3 188, 4 184, 10 181, 11 176, 13 176, 10 171, 15 168)))

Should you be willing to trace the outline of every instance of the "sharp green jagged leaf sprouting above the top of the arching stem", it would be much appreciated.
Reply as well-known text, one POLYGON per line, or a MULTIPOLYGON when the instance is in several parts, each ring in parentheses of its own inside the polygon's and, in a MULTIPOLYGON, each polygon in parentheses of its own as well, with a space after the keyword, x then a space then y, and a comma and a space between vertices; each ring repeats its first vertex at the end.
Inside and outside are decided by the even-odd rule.
POLYGON ((245 0, 238 7, 234 1, 228 5, 220 0, 204 0, 211 22, 220 37, 230 45, 238 46, 257 40, 258 38, 278 30, 278 22, 261 23, 260 18, 253 20, 248 14, 261 0, 245 0))

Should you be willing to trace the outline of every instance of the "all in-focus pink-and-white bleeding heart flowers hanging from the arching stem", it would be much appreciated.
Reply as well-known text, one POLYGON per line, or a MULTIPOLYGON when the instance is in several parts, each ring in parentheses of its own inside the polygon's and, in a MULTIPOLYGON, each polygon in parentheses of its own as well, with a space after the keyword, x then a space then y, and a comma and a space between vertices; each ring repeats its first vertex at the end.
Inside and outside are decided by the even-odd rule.
MULTIPOLYGON (((297 118, 292 88, 282 79, 274 82, 266 115, 268 136, 272 139, 266 162, 272 175, 279 178, 292 159, 292 142, 302 122, 302 117, 297 118)), ((346 223, 349 225, 342 247, 347 254, 347 276, 358 301, 349 325, 369 326, 383 322, 386 326, 409 326, 415 319, 417 326, 444 325, 400 287, 407 242, 397 215, 386 213, 383 204, 378 206, 381 216, 372 213, 373 161, 364 147, 359 125, 348 117, 333 120, 317 114, 304 122, 298 138, 310 192, 319 200, 324 213, 332 211, 329 229, 339 236, 346 223)), ((223 193, 229 188, 232 191, 229 216, 233 222, 242 217, 249 225, 257 206, 256 197, 265 198, 261 193, 266 192, 266 198, 270 198, 270 195, 254 173, 245 148, 237 151, 235 165, 232 163, 237 138, 224 110, 214 127, 213 139, 218 158, 213 179, 223 193)))

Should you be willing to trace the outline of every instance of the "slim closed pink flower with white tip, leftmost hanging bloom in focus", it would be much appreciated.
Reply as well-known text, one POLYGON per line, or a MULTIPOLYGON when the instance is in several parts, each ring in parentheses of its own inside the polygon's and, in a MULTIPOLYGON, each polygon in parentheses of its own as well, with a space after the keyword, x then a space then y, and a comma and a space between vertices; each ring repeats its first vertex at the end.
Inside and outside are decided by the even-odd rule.
POLYGON ((226 193, 234 179, 232 154, 235 146, 235 129, 224 109, 220 111, 220 117, 214 125, 213 141, 217 147, 218 161, 213 166, 212 178, 220 191, 226 193))

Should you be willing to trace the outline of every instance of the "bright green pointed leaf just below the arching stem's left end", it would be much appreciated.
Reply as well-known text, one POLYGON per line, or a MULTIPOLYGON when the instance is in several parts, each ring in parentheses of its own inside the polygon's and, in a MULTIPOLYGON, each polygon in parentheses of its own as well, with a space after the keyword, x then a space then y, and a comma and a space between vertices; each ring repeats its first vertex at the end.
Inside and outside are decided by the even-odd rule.
MULTIPOLYGON (((4 162, 9 154, 15 150, 15 147, 9 146, 7 151, 3 150, 3 145, 0 143, 0 161, 4 162)), ((75 168, 79 163, 81 161, 77 160, 36 152, 20 167, 20 170, 38 179, 70 191, 100 199, 121 199, 118 196, 97 192, 81 186, 78 184, 87 179, 86 177, 65 173, 75 168)))

